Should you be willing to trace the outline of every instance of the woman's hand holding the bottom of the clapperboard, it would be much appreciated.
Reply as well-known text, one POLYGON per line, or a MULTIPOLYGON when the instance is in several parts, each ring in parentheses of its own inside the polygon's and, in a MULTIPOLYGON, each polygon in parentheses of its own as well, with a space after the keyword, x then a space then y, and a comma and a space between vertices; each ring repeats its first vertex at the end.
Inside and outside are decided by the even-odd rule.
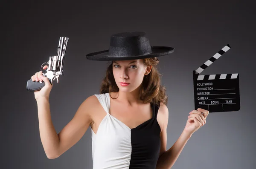
POLYGON ((188 120, 184 132, 189 135, 192 135, 197 131, 201 126, 204 126, 206 123, 206 118, 209 115, 209 111, 205 109, 198 108, 189 113, 188 120))

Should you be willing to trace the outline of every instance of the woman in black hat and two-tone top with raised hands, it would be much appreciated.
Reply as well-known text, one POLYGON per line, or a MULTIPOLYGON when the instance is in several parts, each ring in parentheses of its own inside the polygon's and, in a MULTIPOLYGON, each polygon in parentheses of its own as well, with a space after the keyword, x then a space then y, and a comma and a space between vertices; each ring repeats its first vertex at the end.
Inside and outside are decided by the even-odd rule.
MULTIPOLYGON (((157 57, 172 47, 150 46, 145 32, 113 34, 109 50, 87 54, 89 60, 109 60, 99 95, 79 106, 59 134, 50 116, 47 77, 37 72, 33 81, 44 81, 35 92, 41 141, 49 159, 58 158, 77 143, 90 126, 93 169, 169 169, 192 134, 206 123, 207 110, 190 112, 185 129, 166 151, 168 108, 165 87, 160 85, 157 57)), ((44 67, 47 69, 47 66, 44 67)))

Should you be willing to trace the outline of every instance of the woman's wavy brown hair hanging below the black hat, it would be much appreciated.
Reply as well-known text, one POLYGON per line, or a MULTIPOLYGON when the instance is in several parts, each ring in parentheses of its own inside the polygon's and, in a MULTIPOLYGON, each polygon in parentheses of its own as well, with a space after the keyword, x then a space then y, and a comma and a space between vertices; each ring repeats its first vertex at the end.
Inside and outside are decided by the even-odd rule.
MULTIPOLYGON (((142 88, 140 90, 140 99, 143 103, 155 103, 159 104, 160 102, 167 105, 168 97, 166 95, 166 88, 162 86, 161 83, 161 74, 157 70, 157 65, 159 60, 157 57, 145 58, 143 59, 143 63, 146 66, 152 65, 151 72, 147 75, 144 75, 142 88)), ((113 63, 111 63, 106 72, 106 76, 102 80, 102 84, 100 86, 100 94, 110 93, 110 92, 118 92, 119 88, 116 85, 114 75, 113 75, 113 63)), ((111 97, 113 98, 113 97, 111 97)), ((116 98, 113 98, 116 99, 116 98)))

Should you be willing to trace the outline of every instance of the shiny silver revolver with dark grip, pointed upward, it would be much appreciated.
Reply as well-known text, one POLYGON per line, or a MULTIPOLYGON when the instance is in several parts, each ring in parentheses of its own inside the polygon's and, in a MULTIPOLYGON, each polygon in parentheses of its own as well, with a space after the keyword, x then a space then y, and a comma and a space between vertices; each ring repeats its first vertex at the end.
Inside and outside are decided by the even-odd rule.
MULTIPOLYGON (((64 56, 67 48, 68 37, 60 37, 58 50, 56 56, 50 56, 49 61, 47 63, 43 63, 41 65, 41 71, 43 76, 48 77, 50 83, 52 84, 55 79, 63 74, 63 64, 64 64, 64 56), (48 66, 47 69, 43 69, 44 66, 48 66)), ((38 91, 41 90, 42 87, 45 86, 44 81, 32 81, 32 79, 27 81, 26 89, 28 91, 38 91)))

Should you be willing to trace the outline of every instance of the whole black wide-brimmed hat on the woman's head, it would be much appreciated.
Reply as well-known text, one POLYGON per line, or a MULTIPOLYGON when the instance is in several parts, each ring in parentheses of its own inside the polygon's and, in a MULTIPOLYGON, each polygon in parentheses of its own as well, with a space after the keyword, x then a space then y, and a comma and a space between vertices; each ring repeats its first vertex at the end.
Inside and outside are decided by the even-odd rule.
POLYGON ((159 57, 174 52, 167 46, 150 46, 145 32, 122 32, 112 34, 108 50, 86 55, 88 60, 134 60, 159 57))

